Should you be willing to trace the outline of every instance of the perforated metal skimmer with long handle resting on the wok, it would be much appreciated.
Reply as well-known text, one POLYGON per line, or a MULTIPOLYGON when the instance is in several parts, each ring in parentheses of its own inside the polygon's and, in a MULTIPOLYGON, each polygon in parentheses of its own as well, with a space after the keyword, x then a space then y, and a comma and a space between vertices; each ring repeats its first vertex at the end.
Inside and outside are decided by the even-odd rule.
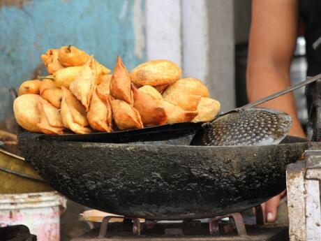
POLYGON ((256 105, 282 96, 294 89, 320 80, 320 75, 308 78, 286 89, 262 98, 241 108, 231 110, 213 122, 202 125, 192 145, 271 145, 278 144, 290 131, 290 115, 278 110, 254 108, 256 105))

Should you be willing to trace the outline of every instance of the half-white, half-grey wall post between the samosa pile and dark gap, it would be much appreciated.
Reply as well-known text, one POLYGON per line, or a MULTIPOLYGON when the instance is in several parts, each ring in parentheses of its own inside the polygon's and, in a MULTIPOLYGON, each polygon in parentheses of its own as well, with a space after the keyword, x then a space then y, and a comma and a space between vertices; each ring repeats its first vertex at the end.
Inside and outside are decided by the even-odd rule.
POLYGON ((184 75, 200 78, 225 112, 235 106, 232 0, 182 2, 184 75))

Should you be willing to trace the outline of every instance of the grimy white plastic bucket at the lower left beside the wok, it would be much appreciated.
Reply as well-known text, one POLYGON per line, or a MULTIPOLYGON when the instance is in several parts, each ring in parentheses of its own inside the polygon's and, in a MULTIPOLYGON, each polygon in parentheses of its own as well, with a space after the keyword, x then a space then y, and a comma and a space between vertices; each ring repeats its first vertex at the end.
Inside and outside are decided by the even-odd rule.
POLYGON ((38 241, 60 240, 60 214, 66 198, 56 191, 1 194, 0 226, 26 225, 38 241))

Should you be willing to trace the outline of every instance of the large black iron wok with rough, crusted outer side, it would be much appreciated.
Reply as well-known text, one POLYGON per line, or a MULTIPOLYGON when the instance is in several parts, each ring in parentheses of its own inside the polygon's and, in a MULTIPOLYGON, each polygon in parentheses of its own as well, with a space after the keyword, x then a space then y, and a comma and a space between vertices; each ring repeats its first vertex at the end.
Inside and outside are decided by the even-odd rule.
POLYGON ((308 145, 124 145, 38 136, 20 133, 20 147, 54 189, 88 207, 146 219, 200 219, 259 205, 285 189, 286 165, 308 145))

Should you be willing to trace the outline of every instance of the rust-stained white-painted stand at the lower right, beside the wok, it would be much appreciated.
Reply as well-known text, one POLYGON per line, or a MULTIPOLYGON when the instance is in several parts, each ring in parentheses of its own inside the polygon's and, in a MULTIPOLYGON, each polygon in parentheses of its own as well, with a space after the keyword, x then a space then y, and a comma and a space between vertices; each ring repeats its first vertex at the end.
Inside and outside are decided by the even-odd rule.
POLYGON ((303 161, 287 169, 291 241, 321 240, 321 143, 311 143, 303 161))

